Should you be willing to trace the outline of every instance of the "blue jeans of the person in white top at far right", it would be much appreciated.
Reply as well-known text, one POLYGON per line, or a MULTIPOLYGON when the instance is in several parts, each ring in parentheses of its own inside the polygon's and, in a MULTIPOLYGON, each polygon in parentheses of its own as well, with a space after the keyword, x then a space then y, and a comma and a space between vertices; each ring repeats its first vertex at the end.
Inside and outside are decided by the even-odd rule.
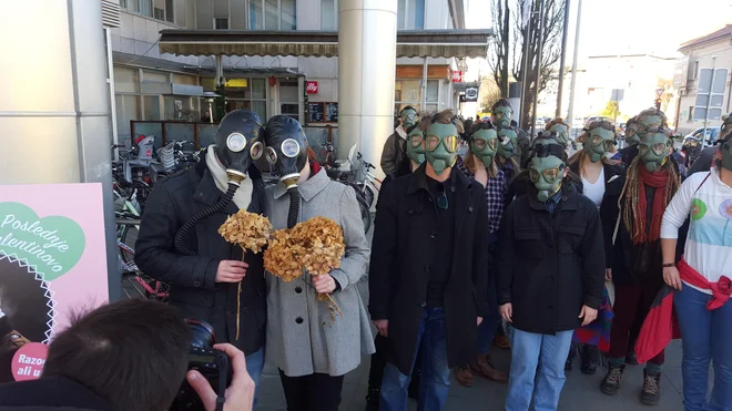
POLYGON ((687 411, 732 409, 732 302, 710 311, 712 296, 683 285, 673 306, 681 329, 683 405, 687 411), (709 362, 714 367, 714 387, 706 402, 709 362))

